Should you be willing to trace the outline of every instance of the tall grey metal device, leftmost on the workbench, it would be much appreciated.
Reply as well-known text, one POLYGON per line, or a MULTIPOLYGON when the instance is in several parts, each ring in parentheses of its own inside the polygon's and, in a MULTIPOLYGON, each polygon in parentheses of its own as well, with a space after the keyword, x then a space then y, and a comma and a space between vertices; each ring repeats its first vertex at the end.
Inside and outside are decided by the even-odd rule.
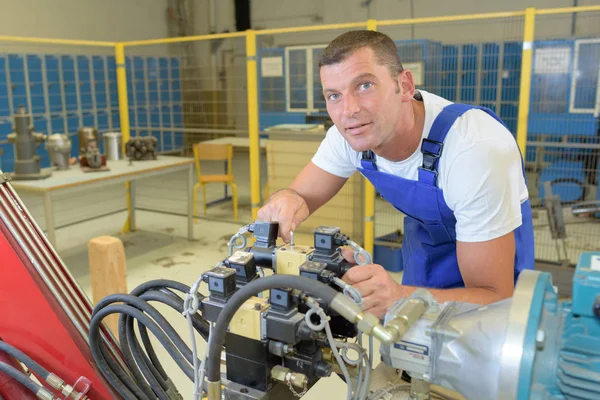
POLYGON ((44 179, 52 175, 52 171, 40 166, 40 157, 35 154, 37 147, 46 140, 43 133, 35 133, 31 123, 31 115, 25 107, 20 106, 15 115, 14 132, 8 135, 8 141, 15 148, 15 170, 13 179, 44 179))

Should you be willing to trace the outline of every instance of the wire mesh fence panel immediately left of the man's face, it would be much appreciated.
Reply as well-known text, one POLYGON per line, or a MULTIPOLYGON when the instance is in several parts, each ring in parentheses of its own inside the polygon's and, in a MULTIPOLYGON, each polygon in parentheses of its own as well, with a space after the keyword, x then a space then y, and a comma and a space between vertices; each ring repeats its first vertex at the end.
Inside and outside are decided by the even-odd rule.
MULTIPOLYGON (((259 125, 268 139, 264 195, 292 183, 333 125, 323 97, 319 58, 327 44, 345 31, 258 36, 259 125)), ((298 232, 310 233, 319 225, 339 226, 361 241, 363 199, 363 181, 355 174, 298 232)))

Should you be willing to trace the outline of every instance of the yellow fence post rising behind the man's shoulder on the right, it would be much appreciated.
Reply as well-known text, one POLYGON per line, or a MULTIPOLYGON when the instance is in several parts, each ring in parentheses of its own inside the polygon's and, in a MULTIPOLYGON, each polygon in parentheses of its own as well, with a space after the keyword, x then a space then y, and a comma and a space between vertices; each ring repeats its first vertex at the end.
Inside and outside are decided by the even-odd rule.
POLYGON ((531 65, 533 61, 533 40, 535 30, 535 8, 525 10, 523 33, 523 57, 521 61, 521 90, 519 92, 519 117, 517 119, 517 143, 523 158, 527 147, 527 121, 529 119, 529 98, 531 95, 531 65))

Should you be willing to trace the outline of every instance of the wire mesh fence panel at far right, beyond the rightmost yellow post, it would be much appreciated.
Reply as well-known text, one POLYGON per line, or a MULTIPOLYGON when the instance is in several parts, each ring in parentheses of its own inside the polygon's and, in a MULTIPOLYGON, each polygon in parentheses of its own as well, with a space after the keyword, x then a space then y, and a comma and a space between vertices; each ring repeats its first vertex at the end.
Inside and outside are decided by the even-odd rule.
POLYGON ((600 13, 536 17, 526 166, 537 258, 576 263, 600 249, 600 13), (575 214, 573 213, 575 211, 575 214))

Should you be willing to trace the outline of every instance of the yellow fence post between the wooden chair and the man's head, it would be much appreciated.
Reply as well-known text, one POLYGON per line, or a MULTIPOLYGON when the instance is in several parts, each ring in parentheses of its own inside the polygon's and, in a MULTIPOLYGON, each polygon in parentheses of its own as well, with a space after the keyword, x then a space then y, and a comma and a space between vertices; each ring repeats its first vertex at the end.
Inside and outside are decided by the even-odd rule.
POLYGON ((258 77, 256 69, 256 32, 246 31, 246 80, 248 85, 248 138, 250 140, 250 198, 252 220, 260 207, 260 139, 258 135, 258 77))

